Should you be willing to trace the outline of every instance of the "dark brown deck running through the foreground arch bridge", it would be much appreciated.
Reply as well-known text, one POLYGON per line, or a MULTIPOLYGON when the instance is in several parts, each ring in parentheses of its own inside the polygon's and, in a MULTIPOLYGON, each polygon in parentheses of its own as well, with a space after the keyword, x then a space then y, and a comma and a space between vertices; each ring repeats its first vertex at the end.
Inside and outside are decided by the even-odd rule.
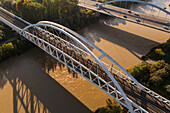
MULTIPOLYGON (((7 21, 9 21, 11 24, 18 26, 21 29, 27 26, 27 24, 25 24, 21 20, 11 16, 10 14, 8 14, 7 12, 4 12, 2 10, 0 10, 0 16, 2 18, 6 19, 7 21)), ((80 60, 80 62, 84 66, 86 66, 88 68, 92 67, 91 71, 93 71, 94 73, 98 73, 98 76, 100 76, 104 80, 110 81, 110 78, 108 78, 106 76, 105 71, 103 71, 103 69, 98 64, 96 64, 95 62, 93 62, 90 59, 87 59, 85 57, 82 57, 80 54, 76 53, 75 51, 70 50, 69 47, 62 45, 61 43, 58 43, 55 40, 51 40, 52 38, 50 38, 49 36, 46 36, 46 34, 43 34, 43 33, 38 32, 38 31, 35 32, 35 33, 40 34, 39 38, 49 42, 51 45, 54 45, 58 49, 63 50, 66 54, 68 54, 69 56, 72 56, 77 61, 80 60), (97 68, 98 68, 98 72, 96 72, 97 68)), ((46 50, 49 51, 48 48, 46 48, 46 50)), ((67 59, 67 57, 66 57, 66 59, 67 59)), ((64 59, 61 57, 60 60, 64 60, 64 59)), ((69 63, 68 63, 68 65, 69 65, 69 63)), ((76 63, 73 63, 73 65, 77 66, 76 63)), ((77 70, 79 70, 79 68, 77 68, 77 70)), ((84 70, 84 72, 86 72, 86 70, 84 70)), ((168 106, 165 106, 164 103, 161 103, 160 101, 156 100, 154 97, 152 97, 149 94, 146 94, 145 92, 141 91, 139 88, 136 88, 135 86, 133 86, 133 85, 127 83, 126 81, 120 79, 117 75, 113 74, 113 76, 115 76, 116 80, 119 82, 120 86, 122 87, 122 89, 126 93, 127 97, 129 97, 132 101, 134 101, 138 105, 142 106, 145 110, 147 110, 151 113, 152 112, 153 113, 156 113, 156 112, 168 113, 168 112, 170 112, 167 109, 168 106)), ((88 78, 88 76, 86 76, 86 75, 85 75, 85 77, 88 78)), ((96 84, 97 84, 97 82, 96 82, 96 84)))

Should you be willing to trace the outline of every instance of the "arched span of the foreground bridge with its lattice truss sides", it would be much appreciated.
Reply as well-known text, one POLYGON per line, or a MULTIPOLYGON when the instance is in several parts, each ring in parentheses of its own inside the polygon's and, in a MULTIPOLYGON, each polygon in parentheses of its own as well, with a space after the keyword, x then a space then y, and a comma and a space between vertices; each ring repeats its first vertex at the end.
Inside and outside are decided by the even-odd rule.
MULTIPOLYGON (((17 18, 22 20, 19 17, 17 18)), ((115 77, 119 77, 133 84, 167 105, 170 104, 169 100, 141 85, 132 75, 100 48, 62 25, 49 21, 41 21, 37 24, 30 24, 25 21, 28 26, 21 29, 2 17, 0 17, 0 20, 21 36, 94 84, 110 97, 117 100, 132 113, 147 113, 147 111, 127 98, 115 77), (95 55, 91 51, 92 48, 96 49, 100 53, 100 56, 95 55), (120 71, 114 68, 113 65, 104 63, 102 61, 103 58, 106 58, 113 65, 117 66, 120 71)))

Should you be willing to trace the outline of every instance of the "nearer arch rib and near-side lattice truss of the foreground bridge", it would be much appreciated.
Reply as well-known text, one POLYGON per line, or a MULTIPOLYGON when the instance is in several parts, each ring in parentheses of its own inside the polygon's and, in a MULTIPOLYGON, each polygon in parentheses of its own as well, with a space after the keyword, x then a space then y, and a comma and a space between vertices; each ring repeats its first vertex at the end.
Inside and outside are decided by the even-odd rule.
MULTIPOLYGON (((34 30, 36 31, 36 30, 34 30)), ((48 34, 48 33, 47 33, 48 34)), ((97 86, 98 88, 100 88, 101 90, 103 90, 105 93, 107 93, 108 95, 110 95, 112 98, 114 98, 115 100, 117 100, 119 103, 121 103, 123 106, 127 107, 128 109, 131 106, 130 112, 133 112, 135 109, 140 109, 141 112, 147 112, 144 109, 142 109, 140 106, 138 106, 137 104, 134 104, 131 100, 129 100, 123 90, 121 89, 121 87, 119 86, 119 84, 116 82, 116 80, 114 79, 114 77, 112 76, 112 74, 107 70, 107 68, 103 65, 103 62, 101 62, 88 48, 86 48, 86 46, 84 44, 82 44, 80 41, 77 40, 77 38, 75 38, 74 36, 72 36, 71 34, 67 33, 66 31, 64 31, 63 29, 60 28, 56 28, 54 26, 51 25, 47 25, 47 24, 34 24, 34 25, 30 25, 26 28, 24 28, 21 31, 21 35, 23 35, 25 38, 27 38, 28 40, 32 41, 32 43, 34 43, 35 45, 37 45, 37 42, 41 42, 43 43, 43 47, 41 46, 40 48, 42 48, 44 51, 46 51, 47 53, 49 53, 51 56, 53 56, 54 58, 56 58, 58 61, 62 62, 64 65, 66 65, 67 67, 71 68, 72 70, 74 70, 76 73, 78 73, 79 75, 83 76, 84 78, 88 79, 91 83, 93 83, 95 86, 97 86), (107 83, 106 80, 104 80, 103 78, 101 78, 100 76, 98 76, 97 74, 95 74, 92 71, 92 67, 93 65, 88 68, 85 65, 81 64, 79 60, 75 60, 74 58, 72 58, 71 56, 69 56, 67 53, 63 52, 63 48, 60 50, 58 48, 56 48, 55 46, 53 46, 52 44, 50 44, 50 40, 46 39, 42 40, 40 37, 37 37, 33 34, 30 34, 27 29, 29 28, 37 28, 36 26, 46 26, 46 27, 50 27, 52 29, 58 30, 59 32, 62 32, 63 34, 65 34, 66 36, 68 36, 69 38, 73 39, 73 41, 77 42, 79 45, 81 45, 86 52, 91 55, 93 57, 93 59, 96 61, 96 63, 98 63, 98 65, 100 65, 100 67, 102 67, 104 69, 104 71, 107 73, 107 75, 110 75, 109 78, 112 80, 111 82, 114 84, 114 87, 112 85, 110 85, 109 83, 107 83), (48 48, 48 49, 47 49, 48 48), (56 57, 58 55, 55 55, 51 48, 55 49, 55 51, 57 51, 60 53, 59 57, 56 57), (63 59, 62 59, 63 58, 63 59), (68 64, 66 61, 66 58, 68 58, 68 61, 71 61, 71 64, 68 64), (76 65, 75 65, 76 64, 76 65), (102 84, 102 85, 101 85, 102 84), (101 86, 106 86, 106 87, 101 87, 101 86), (120 99, 121 98, 121 99, 120 99), (123 100, 123 101, 122 101, 123 100), (136 106, 137 105, 137 106, 136 106), (133 107, 132 107, 133 106, 133 107), (134 107, 135 106, 135 107, 134 107)), ((69 43, 69 42, 67 42, 69 43)), ((65 44, 63 44, 65 45, 65 44)), ((79 52, 75 51, 76 53, 80 54, 79 52)))

